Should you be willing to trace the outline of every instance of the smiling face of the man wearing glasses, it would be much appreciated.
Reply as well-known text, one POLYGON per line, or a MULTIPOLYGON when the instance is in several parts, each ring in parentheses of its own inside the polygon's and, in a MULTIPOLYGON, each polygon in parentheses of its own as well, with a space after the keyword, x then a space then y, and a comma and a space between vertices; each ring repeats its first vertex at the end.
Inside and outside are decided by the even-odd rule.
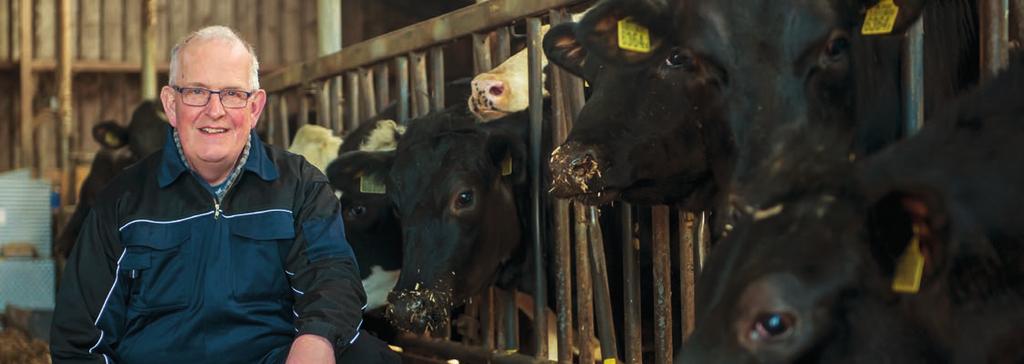
MULTIPOLYGON (((180 72, 172 81, 176 86, 252 91, 252 56, 242 44, 223 39, 193 41, 181 49, 178 62, 180 72)), ((161 98, 168 121, 178 131, 182 153, 194 168, 202 168, 234 163, 259 120, 266 94, 258 90, 241 109, 224 108, 219 94, 211 94, 206 106, 188 106, 170 86, 161 90, 161 98)))

